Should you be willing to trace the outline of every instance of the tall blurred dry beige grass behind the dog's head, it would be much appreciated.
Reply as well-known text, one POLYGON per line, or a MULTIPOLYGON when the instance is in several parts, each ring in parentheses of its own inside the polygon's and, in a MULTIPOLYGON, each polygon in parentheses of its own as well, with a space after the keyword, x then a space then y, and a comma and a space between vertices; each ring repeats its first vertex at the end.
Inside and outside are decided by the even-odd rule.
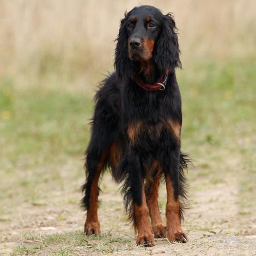
POLYGON ((139 3, 174 13, 185 69, 194 59, 223 61, 254 51, 254 0, 2 0, 0 78, 11 77, 19 88, 88 90, 113 70, 119 21, 139 3))

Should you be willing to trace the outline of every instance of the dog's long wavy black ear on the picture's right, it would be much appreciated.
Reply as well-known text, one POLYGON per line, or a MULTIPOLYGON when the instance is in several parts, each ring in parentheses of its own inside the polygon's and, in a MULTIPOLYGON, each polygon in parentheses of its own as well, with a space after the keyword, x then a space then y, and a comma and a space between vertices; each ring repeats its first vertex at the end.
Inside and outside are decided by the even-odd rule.
POLYGON ((161 72, 181 68, 177 28, 172 14, 163 15, 162 32, 157 40, 153 58, 161 72))

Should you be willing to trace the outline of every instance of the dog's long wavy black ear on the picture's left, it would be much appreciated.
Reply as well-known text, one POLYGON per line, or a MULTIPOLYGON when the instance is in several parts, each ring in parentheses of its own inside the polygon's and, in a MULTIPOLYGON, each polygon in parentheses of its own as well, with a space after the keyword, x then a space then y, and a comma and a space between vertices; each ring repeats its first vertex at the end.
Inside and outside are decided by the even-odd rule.
POLYGON ((119 78, 131 77, 133 63, 128 56, 128 34, 126 30, 127 19, 131 11, 127 13, 125 11, 125 17, 121 20, 119 34, 115 41, 117 46, 115 47, 115 60, 114 67, 119 78))

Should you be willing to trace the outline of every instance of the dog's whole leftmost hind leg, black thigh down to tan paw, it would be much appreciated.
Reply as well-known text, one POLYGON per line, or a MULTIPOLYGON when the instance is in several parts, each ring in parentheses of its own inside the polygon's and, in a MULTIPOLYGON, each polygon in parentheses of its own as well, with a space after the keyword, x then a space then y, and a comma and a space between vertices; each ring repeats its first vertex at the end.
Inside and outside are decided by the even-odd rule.
MULTIPOLYGON (((111 78, 109 78, 111 80, 111 78)), ((86 235, 100 234, 100 223, 97 216, 98 187, 100 174, 109 164, 109 151, 118 133, 118 117, 114 113, 113 106, 107 97, 113 97, 114 93, 108 92, 113 87, 111 81, 106 81, 106 87, 102 87, 96 95, 96 106, 92 122, 92 136, 86 150, 87 174, 86 183, 82 186, 84 197, 82 206, 87 210, 84 232, 86 235)), ((111 101, 113 103, 113 101, 111 101)))

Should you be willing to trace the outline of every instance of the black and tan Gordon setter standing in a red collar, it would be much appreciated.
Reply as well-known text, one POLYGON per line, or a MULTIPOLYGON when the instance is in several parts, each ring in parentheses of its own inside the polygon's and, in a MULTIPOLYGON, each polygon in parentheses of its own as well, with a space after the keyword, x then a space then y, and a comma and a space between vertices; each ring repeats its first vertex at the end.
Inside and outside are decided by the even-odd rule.
POLYGON ((186 242, 181 220, 187 157, 180 151, 181 96, 175 68, 181 62, 173 16, 149 5, 135 7, 125 12, 116 41, 115 72, 95 96, 82 186, 84 232, 100 234, 98 182, 108 167, 114 180, 123 182, 137 245, 154 246, 152 232, 170 242, 186 242), (167 190, 166 225, 157 203, 161 179, 167 190))

